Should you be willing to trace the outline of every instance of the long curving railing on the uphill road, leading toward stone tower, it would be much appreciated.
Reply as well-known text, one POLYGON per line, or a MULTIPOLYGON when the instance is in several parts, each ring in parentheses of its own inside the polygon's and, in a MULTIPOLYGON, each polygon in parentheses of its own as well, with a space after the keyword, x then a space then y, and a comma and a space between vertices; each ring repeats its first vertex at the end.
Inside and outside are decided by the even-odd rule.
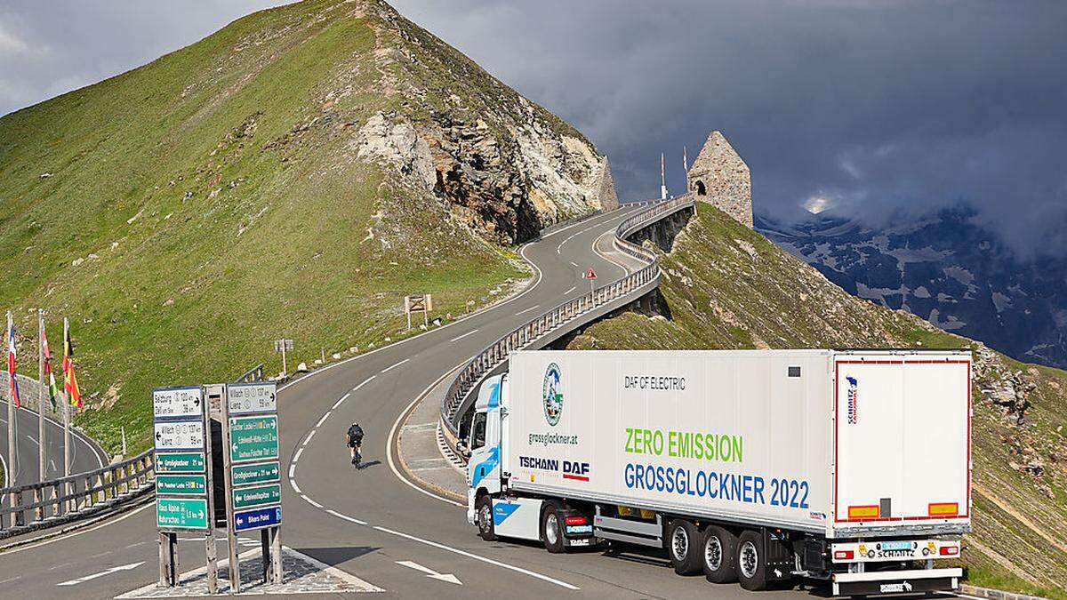
POLYGON ((658 283, 659 265, 655 252, 627 241, 626 237, 669 215, 690 207, 692 204, 691 194, 656 201, 650 204, 650 208, 623 220, 616 227, 616 246, 626 254, 648 263, 646 267, 577 298, 564 301, 534 317, 501 336, 467 362, 449 384, 441 404, 441 421, 448 436, 452 440, 459 437, 460 419, 463 409, 469 406, 471 394, 482 379, 508 359, 512 351, 534 347, 539 338, 560 329, 573 327, 583 315, 590 311, 626 298, 638 290, 643 295, 649 284, 658 283))

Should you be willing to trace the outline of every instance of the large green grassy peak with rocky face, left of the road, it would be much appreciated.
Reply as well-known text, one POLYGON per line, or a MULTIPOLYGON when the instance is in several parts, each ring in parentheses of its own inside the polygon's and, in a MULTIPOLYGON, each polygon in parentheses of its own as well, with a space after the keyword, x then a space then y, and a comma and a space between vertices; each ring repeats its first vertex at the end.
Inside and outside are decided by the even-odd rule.
MULTIPOLYGON (((153 386, 277 373, 282 336, 290 369, 381 345, 404 334, 405 294, 442 318, 487 303, 527 275, 508 249, 524 227, 595 205, 598 159, 384 2, 264 11, 0 119, 0 306, 30 337, 45 309, 53 351, 69 317, 81 424, 146 447, 153 386), (555 179, 464 169, 523 136, 556 148, 555 179), (530 208, 539 185, 570 204, 530 208)), ((35 353, 20 341, 22 373, 35 353)))

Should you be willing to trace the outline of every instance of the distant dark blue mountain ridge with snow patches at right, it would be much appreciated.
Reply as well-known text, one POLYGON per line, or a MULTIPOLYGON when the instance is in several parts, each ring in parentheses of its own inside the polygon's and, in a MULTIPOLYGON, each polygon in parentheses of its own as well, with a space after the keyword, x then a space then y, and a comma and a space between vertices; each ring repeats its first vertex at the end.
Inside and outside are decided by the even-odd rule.
POLYGON ((1067 366, 1067 258, 1021 258, 967 206, 872 228, 840 218, 755 227, 849 294, 1008 356, 1067 366))

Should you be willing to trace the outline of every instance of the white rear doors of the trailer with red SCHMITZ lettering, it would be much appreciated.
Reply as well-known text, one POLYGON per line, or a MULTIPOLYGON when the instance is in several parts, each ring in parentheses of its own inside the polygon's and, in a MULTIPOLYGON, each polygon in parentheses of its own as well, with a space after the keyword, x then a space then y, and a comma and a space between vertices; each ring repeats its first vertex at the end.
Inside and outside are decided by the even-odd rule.
POLYGON ((970 352, 835 354, 835 530, 968 520, 970 381, 970 352))

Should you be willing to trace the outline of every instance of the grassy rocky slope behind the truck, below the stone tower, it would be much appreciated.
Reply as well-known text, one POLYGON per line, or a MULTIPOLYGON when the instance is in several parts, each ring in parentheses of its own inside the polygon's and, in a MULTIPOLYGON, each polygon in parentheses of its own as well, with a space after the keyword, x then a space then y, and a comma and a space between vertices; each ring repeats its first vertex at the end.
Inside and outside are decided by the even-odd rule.
POLYGON ((1067 598, 1067 374, 854 298, 706 204, 662 259, 664 315, 622 313, 568 347, 971 347, 974 534, 964 562, 980 585, 1067 598))

